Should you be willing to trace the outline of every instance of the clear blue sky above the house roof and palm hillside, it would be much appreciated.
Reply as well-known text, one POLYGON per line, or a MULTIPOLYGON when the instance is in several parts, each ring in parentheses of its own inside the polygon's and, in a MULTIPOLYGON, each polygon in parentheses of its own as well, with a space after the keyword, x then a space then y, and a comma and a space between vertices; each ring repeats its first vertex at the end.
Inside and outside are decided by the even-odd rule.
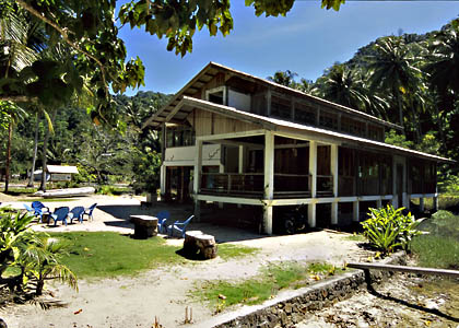
POLYGON ((210 61, 263 78, 291 70, 315 81, 334 62, 344 62, 358 48, 380 36, 423 34, 439 30, 459 16, 459 1, 346 1, 340 11, 320 8, 319 1, 296 0, 286 16, 255 15, 244 0, 232 0, 234 30, 226 37, 195 34, 193 51, 185 57, 167 51, 167 39, 142 30, 121 28, 128 58, 145 66, 145 86, 139 90, 178 92, 210 61))

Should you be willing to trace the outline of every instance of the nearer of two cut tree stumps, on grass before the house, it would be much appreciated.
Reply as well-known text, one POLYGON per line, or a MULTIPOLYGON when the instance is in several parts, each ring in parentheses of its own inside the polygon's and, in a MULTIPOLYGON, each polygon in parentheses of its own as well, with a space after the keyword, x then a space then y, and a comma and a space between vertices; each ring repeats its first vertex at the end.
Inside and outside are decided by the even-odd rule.
POLYGON ((184 251, 190 257, 199 256, 202 259, 211 259, 216 257, 217 245, 212 235, 203 234, 202 231, 187 231, 184 251))

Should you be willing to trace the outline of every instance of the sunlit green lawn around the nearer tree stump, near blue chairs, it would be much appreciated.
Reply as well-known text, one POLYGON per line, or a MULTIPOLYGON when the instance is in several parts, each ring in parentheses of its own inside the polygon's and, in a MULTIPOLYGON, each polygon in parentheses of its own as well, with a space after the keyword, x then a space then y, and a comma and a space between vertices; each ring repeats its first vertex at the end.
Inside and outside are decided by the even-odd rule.
MULTIPOLYGON (((193 262, 176 254, 181 247, 166 245, 161 237, 133 239, 114 232, 50 233, 69 244, 62 258, 78 278, 113 278, 132 276, 164 265, 193 262)), ((228 259, 254 254, 256 248, 219 245, 219 255, 228 259)))

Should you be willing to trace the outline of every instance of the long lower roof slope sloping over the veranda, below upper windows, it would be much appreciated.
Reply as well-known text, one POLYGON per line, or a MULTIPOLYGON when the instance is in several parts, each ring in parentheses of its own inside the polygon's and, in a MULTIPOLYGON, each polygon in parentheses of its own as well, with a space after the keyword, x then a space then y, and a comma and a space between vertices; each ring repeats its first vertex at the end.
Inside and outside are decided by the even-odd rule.
POLYGON ((409 155, 416 156, 416 157, 428 159, 428 160, 433 160, 433 161, 437 161, 437 162, 456 163, 456 161, 452 161, 452 160, 448 160, 448 159, 445 159, 445 157, 419 152, 419 151, 415 151, 415 150, 401 148, 401 147, 398 147, 398 145, 392 145, 392 144, 388 144, 388 143, 384 143, 384 142, 379 142, 379 141, 375 141, 375 140, 369 140, 369 139, 360 138, 360 137, 355 137, 355 136, 351 136, 351 134, 345 134, 345 133, 341 133, 341 132, 320 129, 320 128, 317 128, 317 127, 299 125, 299 124, 291 122, 291 121, 287 121, 287 120, 278 119, 278 118, 266 117, 266 116, 261 116, 261 115, 257 115, 257 114, 252 114, 252 113, 238 110, 234 107, 219 105, 219 104, 214 104, 214 103, 211 103, 211 102, 197 99, 197 98, 192 98, 192 97, 184 96, 184 98, 180 101, 179 106, 180 106, 180 109, 178 112, 180 112, 181 108, 184 108, 184 109, 187 108, 187 109, 185 109, 186 113, 189 113, 189 110, 192 110, 192 108, 200 108, 200 109, 203 109, 203 110, 209 110, 209 112, 213 112, 213 113, 216 113, 216 114, 225 115, 225 116, 228 116, 231 118, 240 119, 240 120, 245 120, 245 121, 250 121, 250 122, 254 122, 254 124, 260 124, 262 126, 262 128, 264 128, 267 130, 271 130, 271 131, 286 131, 286 132, 289 132, 289 130, 295 130, 298 133, 305 133, 305 134, 316 133, 316 134, 319 134, 319 136, 329 137, 329 138, 340 140, 340 141, 350 141, 352 143, 361 143, 361 144, 365 144, 365 145, 370 147, 370 148, 391 150, 391 151, 395 151, 397 153, 409 154, 409 155))

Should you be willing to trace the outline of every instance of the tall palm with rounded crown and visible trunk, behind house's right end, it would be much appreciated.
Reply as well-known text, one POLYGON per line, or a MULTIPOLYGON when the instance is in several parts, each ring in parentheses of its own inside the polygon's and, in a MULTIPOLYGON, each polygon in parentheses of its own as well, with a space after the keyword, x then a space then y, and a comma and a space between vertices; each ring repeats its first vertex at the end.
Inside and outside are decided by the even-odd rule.
POLYGON ((421 71, 414 66, 416 58, 401 37, 379 38, 372 55, 366 56, 373 90, 389 92, 398 107, 398 121, 403 125, 403 96, 417 87, 421 71))

